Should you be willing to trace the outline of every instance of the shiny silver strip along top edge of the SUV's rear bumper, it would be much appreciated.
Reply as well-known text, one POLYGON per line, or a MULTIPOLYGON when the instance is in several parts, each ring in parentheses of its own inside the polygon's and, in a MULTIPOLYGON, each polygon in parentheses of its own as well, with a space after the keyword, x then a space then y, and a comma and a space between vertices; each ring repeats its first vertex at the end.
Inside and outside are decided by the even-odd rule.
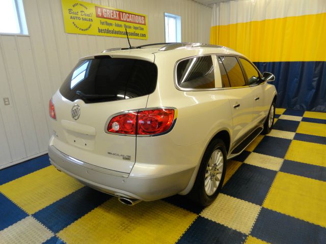
POLYGON ((124 177, 124 178, 127 178, 129 176, 129 173, 119 172, 119 171, 115 171, 115 170, 111 170, 111 169, 105 169, 105 168, 95 166, 95 165, 80 161, 78 159, 72 158, 69 155, 62 153, 62 151, 58 150, 55 146, 49 146, 48 153, 49 153, 50 161, 52 161, 54 163, 56 163, 56 159, 53 159, 53 158, 57 157, 57 160, 65 161, 65 162, 68 162, 68 163, 71 163, 74 165, 78 165, 78 166, 81 166, 81 167, 84 167, 84 168, 87 168, 87 169, 90 169, 93 171, 100 172, 100 173, 110 174, 110 175, 124 177))

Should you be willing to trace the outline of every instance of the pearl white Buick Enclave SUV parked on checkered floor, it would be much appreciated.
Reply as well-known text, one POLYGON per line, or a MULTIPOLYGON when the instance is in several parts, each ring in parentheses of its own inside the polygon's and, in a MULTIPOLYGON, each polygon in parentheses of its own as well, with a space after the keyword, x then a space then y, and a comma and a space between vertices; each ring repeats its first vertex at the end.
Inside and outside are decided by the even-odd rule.
POLYGON ((83 57, 49 102, 50 161, 125 204, 181 194, 207 206, 227 159, 273 127, 274 79, 199 43, 83 57))

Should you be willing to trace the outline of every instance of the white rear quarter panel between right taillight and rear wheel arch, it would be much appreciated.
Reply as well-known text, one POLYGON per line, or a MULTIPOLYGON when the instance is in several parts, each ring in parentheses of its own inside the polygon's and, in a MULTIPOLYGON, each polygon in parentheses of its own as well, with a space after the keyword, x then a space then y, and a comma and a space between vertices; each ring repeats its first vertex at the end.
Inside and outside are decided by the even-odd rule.
POLYGON ((131 174, 144 174, 144 169, 148 175, 150 171, 162 175, 195 169, 216 133, 226 130, 231 134, 232 116, 224 90, 183 92, 175 87, 174 65, 180 58, 181 54, 171 57, 169 62, 166 55, 155 58, 158 81, 147 107, 174 107, 178 111, 177 120, 166 135, 137 137, 137 162, 131 174), (164 167, 167 165, 171 167, 164 167))

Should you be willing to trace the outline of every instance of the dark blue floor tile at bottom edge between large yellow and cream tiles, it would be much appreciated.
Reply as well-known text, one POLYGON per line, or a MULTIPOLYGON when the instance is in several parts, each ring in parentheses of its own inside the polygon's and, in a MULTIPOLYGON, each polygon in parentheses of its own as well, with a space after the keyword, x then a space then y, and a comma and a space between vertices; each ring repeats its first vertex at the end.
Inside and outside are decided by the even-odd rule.
POLYGON ((244 243, 247 235, 199 216, 177 243, 244 243))

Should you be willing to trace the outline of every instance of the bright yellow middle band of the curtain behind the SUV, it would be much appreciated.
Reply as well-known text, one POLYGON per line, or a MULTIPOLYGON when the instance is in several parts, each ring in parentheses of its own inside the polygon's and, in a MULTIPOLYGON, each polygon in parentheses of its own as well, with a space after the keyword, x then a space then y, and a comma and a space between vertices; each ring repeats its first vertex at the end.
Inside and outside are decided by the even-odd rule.
POLYGON ((211 27, 210 42, 253 62, 326 61, 326 13, 211 27))

